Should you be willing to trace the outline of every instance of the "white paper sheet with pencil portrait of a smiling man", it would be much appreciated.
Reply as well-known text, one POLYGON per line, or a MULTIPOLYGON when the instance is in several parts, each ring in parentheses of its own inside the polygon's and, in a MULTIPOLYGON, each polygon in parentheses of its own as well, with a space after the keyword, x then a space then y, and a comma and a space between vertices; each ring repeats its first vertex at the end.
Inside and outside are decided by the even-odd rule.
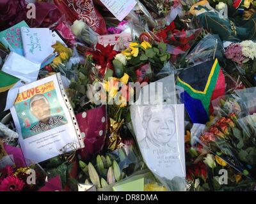
POLYGON ((132 105, 131 119, 148 168, 168 180, 186 177, 184 105, 132 105))

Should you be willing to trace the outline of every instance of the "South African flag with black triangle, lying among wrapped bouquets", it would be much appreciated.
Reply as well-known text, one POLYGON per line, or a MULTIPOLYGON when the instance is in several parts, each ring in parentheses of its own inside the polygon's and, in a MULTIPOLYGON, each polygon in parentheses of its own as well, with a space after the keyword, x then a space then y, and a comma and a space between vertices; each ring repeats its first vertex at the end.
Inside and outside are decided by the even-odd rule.
POLYGON ((225 94, 225 77, 218 59, 185 69, 177 85, 184 88, 182 102, 193 123, 205 124, 212 112, 211 101, 225 94))

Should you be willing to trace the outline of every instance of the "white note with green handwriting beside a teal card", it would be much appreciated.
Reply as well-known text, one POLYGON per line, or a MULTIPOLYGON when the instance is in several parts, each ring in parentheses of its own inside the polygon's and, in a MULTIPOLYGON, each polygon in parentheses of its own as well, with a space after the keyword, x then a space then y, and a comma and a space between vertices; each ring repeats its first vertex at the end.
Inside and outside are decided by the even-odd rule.
POLYGON ((24 55, 33 62, 42 63, 52 55, 51 31, 48 28, 21 27, 24 55))

